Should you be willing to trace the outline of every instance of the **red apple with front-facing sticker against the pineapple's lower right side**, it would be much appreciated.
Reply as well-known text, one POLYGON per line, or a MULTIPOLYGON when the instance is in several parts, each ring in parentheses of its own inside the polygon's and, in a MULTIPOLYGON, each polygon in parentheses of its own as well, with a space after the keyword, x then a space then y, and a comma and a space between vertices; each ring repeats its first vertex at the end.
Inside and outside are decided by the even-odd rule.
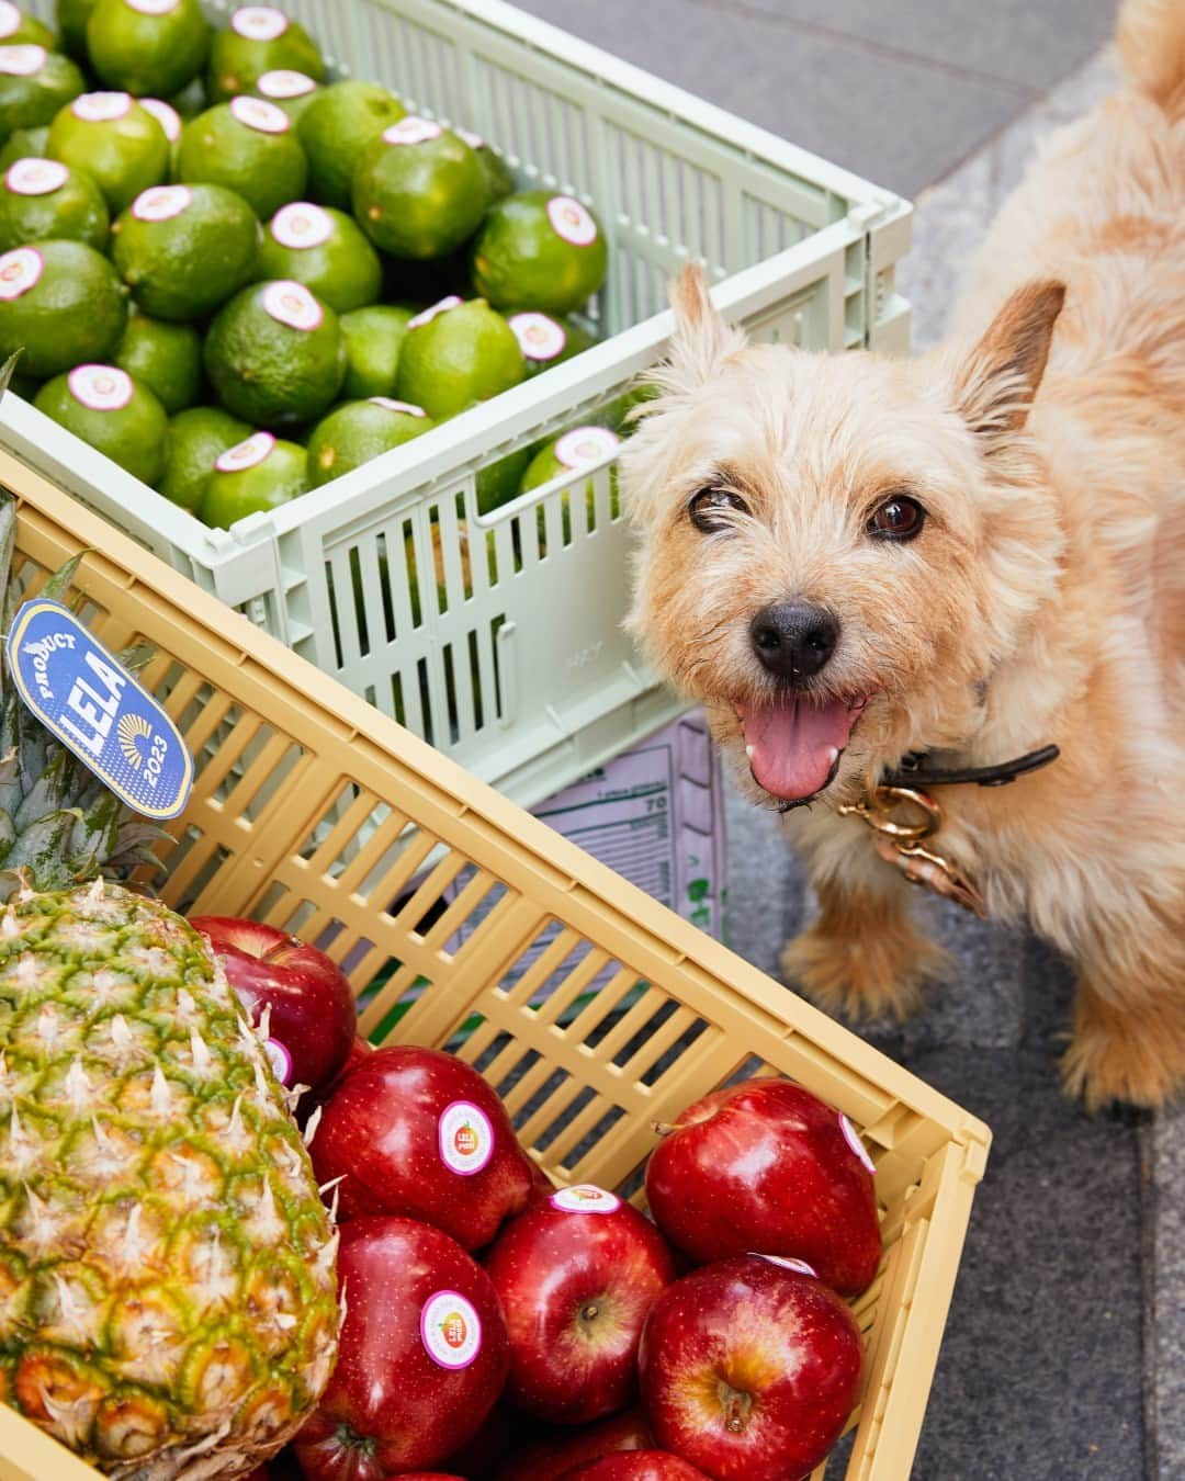
POLYGON ((478 1429, 510 1367, 489 1277, 412 1219, 342 1225, 338 1365, 293 1447, 308 1481, 382 1481, 433 1466, 478 1429))

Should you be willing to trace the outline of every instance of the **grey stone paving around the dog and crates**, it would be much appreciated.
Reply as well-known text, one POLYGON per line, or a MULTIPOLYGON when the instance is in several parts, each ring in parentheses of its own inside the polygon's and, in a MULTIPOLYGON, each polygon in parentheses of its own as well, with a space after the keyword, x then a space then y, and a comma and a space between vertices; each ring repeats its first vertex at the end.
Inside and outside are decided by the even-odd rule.
MULTIPOLYGON (((1114 84, 1111 0, 527 0, 527 9, 917 197, 902 274, 932 342, 1035 138, 1114 84)), ((810 909, 776 823, 730 803, 733 945, 778 973, 810 909)), ((1185 1478, 1185 1112, 1089 1118, 1056 1089, 1071 983, 941 906, 952 979, 868 1037, 995 1131, 918 1481, 1185 1478)))

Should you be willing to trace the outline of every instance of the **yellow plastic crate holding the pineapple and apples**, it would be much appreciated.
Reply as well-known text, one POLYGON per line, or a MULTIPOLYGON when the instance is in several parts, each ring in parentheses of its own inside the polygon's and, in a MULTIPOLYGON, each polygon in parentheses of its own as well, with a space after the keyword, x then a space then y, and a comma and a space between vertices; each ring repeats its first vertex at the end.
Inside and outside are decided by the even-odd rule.
MULTIPOLYGON (((7 453, 0 484, 19 499, 30 591, 86 551, 76 592, 95 634, 154 650, 142 681, 197 761, 161 849, 176 909, 321 940, 358 992, 385 969, 363 1029, 404 1004, 387 1038, 474 1063, 558 1182, 638 1198, 652 1123, 738 1074, 790 1075, 852 1118, 886 1251, 855 1305, 868 1363, 846 1475, 904 1481, 988 1129, 7 453)), ((95 1475, 0 1405, 0 1481, 95 1475)))

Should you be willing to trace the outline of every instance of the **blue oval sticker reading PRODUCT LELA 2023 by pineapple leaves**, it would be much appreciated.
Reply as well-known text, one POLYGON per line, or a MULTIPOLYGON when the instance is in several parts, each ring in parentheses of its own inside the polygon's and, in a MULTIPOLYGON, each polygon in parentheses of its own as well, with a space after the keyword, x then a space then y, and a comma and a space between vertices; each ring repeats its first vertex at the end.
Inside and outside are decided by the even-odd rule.
POLYGON ((129 807, 161 819, 184 812, 194 763, 176 726, 68 607, 27 601, 7 659, 33 714, 129 807))

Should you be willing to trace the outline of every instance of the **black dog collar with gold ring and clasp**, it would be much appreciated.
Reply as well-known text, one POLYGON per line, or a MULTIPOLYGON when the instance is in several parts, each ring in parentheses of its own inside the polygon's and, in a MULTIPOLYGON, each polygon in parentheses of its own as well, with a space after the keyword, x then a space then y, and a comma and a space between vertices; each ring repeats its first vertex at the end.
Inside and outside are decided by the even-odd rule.
POLYGON ((942 807, 923 788, 1006 786, 1018 776, 1056 761, 1059 754, 1056 745, 1046 745, 997 766, 944 769, 927 767, 926 757, 911 751, 902 757, 899 770, 886 772, 871 792, 858 803, 841 804, 840 812, 859 818, 872 829, 877 853, 901 869, 909 884, 923 884, 987 920, 988 908, 975 881, 951 859, 926 847, 942 826, 942 807))

